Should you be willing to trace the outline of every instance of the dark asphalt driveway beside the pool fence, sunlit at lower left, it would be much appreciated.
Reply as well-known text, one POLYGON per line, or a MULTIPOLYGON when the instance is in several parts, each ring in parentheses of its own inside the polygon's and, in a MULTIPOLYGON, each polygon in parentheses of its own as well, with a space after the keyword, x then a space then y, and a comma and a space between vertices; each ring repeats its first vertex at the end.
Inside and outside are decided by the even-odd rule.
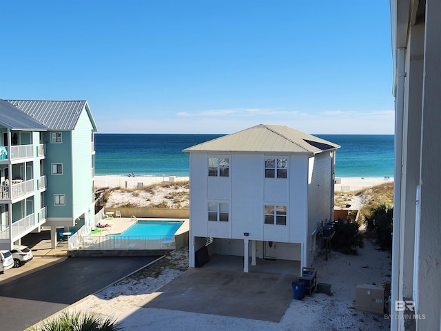
POLYGON ((70 258, 0 285, 0 330, 21 331, 157 258, 70 258))

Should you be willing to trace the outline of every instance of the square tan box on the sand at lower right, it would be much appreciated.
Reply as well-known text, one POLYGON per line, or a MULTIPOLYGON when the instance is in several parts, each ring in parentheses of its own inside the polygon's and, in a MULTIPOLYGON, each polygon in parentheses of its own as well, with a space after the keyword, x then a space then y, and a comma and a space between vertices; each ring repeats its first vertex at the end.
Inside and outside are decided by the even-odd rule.
POLYGON ((356 285, 356 310, 384 314, 384 288, 377 285, 356 285))

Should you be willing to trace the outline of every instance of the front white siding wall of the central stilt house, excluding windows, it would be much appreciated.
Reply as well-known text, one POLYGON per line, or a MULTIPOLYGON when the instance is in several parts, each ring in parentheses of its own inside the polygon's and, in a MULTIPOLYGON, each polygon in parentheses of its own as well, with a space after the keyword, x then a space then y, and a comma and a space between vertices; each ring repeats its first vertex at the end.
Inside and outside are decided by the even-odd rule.
POLYGON ((207 158, 211 156, 192 152, 190 159, 194 237, 243 240, 247 232, 249 240, 305 243, 306 155, 284 156, 289 160, 287 179, 265 178, 265 158, 269 156, 263 153, 232 153, 229 177, 208 177, 207 158), (208 202, 229 203, 229 222, 207 221, 208 202), (287 225, 264 224, 265 205, 286 205, 287 225))

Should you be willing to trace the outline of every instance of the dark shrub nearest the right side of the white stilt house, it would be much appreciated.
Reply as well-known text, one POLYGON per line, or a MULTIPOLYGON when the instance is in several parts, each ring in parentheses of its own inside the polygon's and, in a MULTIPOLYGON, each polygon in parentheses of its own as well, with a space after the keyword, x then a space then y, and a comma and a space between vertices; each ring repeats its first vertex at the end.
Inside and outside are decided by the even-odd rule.
POLYGON ((358 223, 356 221, 347 221, 338 219, 336 222, 336 234, 331 240, 331 246, 344 254, 358 253, 358 248, 362 248, 365 243, 363 236, 358 232, 358 223))

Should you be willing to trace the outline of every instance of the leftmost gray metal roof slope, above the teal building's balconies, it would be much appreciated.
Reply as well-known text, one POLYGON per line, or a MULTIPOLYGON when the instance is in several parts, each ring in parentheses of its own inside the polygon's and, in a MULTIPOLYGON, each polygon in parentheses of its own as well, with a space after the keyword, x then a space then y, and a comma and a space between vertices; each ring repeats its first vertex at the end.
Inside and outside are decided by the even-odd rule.
POLYGON ((48 130, 41 123, 0 99, 0 125, 10 130, 48 130))

